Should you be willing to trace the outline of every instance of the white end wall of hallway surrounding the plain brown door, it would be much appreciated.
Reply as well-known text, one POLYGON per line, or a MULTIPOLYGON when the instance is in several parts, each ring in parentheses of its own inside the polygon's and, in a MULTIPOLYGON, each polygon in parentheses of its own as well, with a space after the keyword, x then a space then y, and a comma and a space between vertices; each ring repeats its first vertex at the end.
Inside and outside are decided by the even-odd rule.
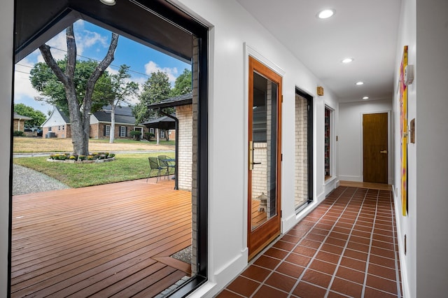
MULTIPOLYGON (((363 114, 389 113, 392 100, 357 101, 339 104, 339 150, 337 170, 339 180, 363 181, 363 114)), ((389 119, 390 124, 390 119, 389 119)), ((391 152, 391 132, 388 132, 388 152, 391 152)), ((391 164, 391 154, 388 155, 391 164)), ((389 183, 393 173, 388 167, 389 183)))

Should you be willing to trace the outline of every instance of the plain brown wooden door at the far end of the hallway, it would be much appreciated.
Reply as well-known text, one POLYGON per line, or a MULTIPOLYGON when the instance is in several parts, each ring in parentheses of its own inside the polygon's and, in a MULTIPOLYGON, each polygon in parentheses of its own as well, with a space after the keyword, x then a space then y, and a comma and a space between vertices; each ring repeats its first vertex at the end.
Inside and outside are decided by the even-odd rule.
POLYGON ((388 182, 387 119, 387 113, 363 115, 364 182, 388 182))

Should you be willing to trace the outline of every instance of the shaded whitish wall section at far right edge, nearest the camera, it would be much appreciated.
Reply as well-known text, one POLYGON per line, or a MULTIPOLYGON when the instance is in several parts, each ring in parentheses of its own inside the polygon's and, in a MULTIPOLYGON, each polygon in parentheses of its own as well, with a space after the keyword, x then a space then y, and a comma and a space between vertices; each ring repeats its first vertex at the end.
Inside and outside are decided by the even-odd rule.
POLYGON ((416 296, 446 297, 448 1, 416 11, 416 296))

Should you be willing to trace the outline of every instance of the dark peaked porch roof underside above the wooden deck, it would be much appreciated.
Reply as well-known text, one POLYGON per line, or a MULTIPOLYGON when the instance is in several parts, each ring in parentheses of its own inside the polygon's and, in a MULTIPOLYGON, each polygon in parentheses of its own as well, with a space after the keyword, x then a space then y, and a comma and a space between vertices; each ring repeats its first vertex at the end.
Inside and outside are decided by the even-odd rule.
POLYGON ((165 1, 154 0, 117 1, 114 6, 92 0, 40 0, 38 5, 34 0, 16 1, 16 62, 76 20, 82 19, 190 63, 193 55, 192 34, 165 20, 162 13, 169 13, 179 20, 181 17, 182 20, 191 17, 179 10, 175 15, 172 10, 165 9, 166 6, 169 4, 165 1), (141 6, 152 8, 159 14, 141 9, 141 6))

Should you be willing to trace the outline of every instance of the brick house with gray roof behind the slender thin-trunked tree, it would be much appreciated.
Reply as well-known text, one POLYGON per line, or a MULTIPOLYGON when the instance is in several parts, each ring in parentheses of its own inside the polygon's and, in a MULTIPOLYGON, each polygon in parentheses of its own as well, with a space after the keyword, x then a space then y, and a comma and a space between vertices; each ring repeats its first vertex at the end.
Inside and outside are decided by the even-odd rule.
MULTIPOLYGON (((109 139, 111 135, 111 106, 104 106, 90 116, 90 138, 109 139)), ((148 129, 144 125, 136 125, 130 106, 117 106, 115 109, 115 139, 132 138, 130 131, 140 131, 140 139, 148 129)))

